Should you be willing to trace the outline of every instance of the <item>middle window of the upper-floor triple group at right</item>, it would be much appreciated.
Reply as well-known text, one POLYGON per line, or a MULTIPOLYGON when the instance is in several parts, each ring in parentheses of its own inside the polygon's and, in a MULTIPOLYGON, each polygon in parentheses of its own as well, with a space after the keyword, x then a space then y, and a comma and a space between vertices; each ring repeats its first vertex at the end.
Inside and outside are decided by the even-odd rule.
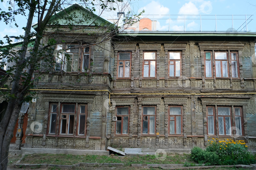
POLYGON ((215 76, 229 77, 227 52, 215 52, 215 76))

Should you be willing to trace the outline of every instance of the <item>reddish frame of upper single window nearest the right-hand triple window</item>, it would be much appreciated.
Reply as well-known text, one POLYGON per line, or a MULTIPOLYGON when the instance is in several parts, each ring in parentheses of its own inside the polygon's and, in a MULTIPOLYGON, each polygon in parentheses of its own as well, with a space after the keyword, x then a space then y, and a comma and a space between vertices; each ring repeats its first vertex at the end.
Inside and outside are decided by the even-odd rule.
POLYGON ((168 51, 168 76, 169 77, 180 78, 182 76, 182 74, 181 74, 182 73, 182 69, 181 69, 182 68, 181 67, 182 61, 181 61, 181 59, 182 59, 182 54, 181 54, 180 51, 168 51), (180 53, 180 59, 170 59, 170 53, 180 53), (179 65, 177 65, 177 63, 176 63, 178 61, 180 62, 179 65), (174 76, 170 75, 171 65, 174 66, 174 72, 173 72, 174 76), (178 68, 178 66, 180 67, 180 76, 176 76, 176 68, 178 68))

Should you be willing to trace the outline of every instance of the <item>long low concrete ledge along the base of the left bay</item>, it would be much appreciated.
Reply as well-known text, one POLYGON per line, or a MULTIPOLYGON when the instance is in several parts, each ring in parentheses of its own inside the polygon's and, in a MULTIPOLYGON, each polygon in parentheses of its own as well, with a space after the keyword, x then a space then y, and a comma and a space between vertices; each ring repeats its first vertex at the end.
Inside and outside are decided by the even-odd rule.
POLYGON ((52 148, 21 148, 21 154, 73 154, 73 155, 109 155, 106 150, 77 150, 77 149, 52 149, 52 148))

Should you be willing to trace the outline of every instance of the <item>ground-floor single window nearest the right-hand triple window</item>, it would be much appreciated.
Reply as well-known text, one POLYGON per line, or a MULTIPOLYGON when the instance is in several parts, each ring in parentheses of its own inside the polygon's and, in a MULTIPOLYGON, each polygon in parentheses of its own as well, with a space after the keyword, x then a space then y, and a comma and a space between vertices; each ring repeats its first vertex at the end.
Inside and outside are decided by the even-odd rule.
POLYGON ((169 106, 169 134, 182 132, 182 107, 169 106))

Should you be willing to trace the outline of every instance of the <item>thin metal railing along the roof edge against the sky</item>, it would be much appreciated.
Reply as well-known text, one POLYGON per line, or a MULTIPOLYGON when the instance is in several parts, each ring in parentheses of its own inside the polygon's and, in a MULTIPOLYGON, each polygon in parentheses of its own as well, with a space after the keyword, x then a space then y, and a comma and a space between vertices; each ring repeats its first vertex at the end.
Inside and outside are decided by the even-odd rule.
MULTIPOLYGON (((143 18, 153 22, 147 31, 250 32, 248 24, 253 15, 143 15, 143 18)), ((143 25, 134 31, 145 31, 142 29, 143 25)))

